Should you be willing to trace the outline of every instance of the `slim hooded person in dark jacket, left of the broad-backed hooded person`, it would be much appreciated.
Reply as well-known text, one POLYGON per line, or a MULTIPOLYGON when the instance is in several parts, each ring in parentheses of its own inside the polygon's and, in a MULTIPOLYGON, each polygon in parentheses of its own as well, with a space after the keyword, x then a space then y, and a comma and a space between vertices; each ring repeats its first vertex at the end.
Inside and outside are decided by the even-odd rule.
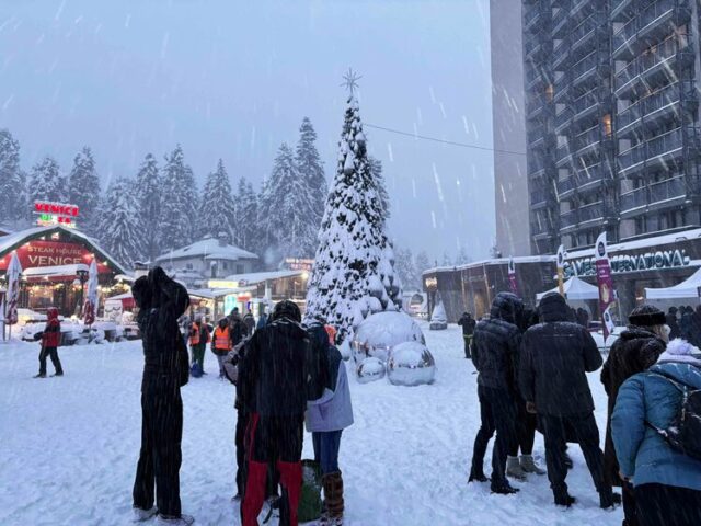
POLYGON ((512 293, 499 293, 492 301, 490 319, 480 321, 472 339, 472 363, 478 369, 478 396, 482 424, 474 439, 470 481, 486 481, 483 460, 496 431, 492 451, 492 492, 515 493, 506 480, 506 456, 517 447, 516 370, 524 304, 512 293))

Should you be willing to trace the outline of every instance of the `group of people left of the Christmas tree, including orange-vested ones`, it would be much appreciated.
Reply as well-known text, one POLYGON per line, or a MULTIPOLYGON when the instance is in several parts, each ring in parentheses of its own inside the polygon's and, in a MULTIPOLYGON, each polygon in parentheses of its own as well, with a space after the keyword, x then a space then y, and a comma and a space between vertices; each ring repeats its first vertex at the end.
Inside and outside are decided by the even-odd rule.
POLYGON ((338 450, 343 430, 353 424, 353 408, 346 369, 333 345, 333 328, 322 319, 302 324, 297 305, 284 300, 269 318, 258 320, 254 331, 253 317, 246 321, 234 310, 214 329, 206 320, 195 319, 183 338, 182 317, 189 298, 182 285, 156 267, 135 282, 133 295, 139 307, 145 355, 134 521, 157 515, 157 524, 194 523, 182 513, 180 501, 180 389, 194 369, 204 366, 204 350, 210 343, 220 375, 237 387, 234 500, 241 500, 242 524, 258 524, 266 499, 275 499, 280 524, 298 524, 306 421, 324 494, 319 524, 341 525, 344 499, 338 450))

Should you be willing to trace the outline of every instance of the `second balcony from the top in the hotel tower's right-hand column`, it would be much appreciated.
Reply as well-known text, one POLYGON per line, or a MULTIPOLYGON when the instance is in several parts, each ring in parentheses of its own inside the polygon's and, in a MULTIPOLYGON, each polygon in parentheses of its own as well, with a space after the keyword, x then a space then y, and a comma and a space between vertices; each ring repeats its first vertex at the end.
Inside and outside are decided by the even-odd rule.
POLYGON ((656 78, 659 81, 666 80, 675 64, 688 66, 693 62, 693 48, 686 35, 667 38, 657 45, 655 53, 641 55, 616 73, 616 96, 627 99, 643 81, 654 85, 656 78))

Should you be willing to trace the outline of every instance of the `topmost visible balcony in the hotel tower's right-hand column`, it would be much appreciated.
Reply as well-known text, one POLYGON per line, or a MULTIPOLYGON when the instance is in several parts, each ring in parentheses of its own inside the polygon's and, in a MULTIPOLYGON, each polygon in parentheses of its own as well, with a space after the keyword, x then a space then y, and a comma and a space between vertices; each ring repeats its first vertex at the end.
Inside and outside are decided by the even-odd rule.
POLYGON ((613 58, 631 59, 642 53, 651 41, 664 38, 670 26, 680 26, 689 21, 689 0, 657 0, 636 12, 613 35, 613 58))

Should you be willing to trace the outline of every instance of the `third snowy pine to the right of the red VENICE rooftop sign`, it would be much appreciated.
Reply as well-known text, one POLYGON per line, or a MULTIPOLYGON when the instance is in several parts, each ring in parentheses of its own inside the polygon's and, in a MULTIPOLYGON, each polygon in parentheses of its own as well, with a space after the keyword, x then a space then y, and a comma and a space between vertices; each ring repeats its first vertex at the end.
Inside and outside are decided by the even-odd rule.
POLYGON ((136 175, 136 201, 139 222, 143 226, 140 236, 140 253, 148 261, 161 254, 159 221, 163 188, 156 157, 147 153, 136 175))

